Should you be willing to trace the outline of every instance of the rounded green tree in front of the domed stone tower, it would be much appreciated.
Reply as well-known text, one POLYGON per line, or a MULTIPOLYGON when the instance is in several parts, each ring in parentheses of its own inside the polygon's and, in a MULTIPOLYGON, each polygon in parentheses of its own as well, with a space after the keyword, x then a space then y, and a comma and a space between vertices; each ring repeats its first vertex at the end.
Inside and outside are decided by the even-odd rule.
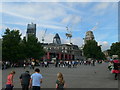
POLYGON ((105 55, 101 51, 101 47, 98 46, 95 40, 87 41, 83 48, 83 52, 86 58, 105 59, 105 55))

